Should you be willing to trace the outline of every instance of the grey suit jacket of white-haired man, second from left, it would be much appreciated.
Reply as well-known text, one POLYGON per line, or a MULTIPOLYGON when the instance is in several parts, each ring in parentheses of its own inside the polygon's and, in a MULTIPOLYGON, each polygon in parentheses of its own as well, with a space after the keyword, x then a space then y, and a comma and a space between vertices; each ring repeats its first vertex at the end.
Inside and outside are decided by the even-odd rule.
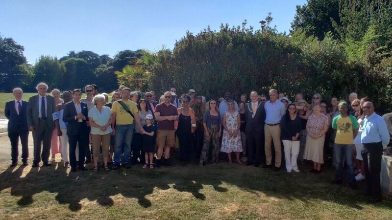
MULTIPOLYGON (((53 96, 47 95, 47 110, 46 110, 46 123, 49 129, 54 128, 54 121, 53 121, 53 112, 56 111, 56 104, 54 102, 53 96)), ((38 128, 38 121, 39 121, 39 114, 40 109, 39 105, 39 95, 34 95, 28 100, 27 104, 27 125, 34 126, 36 129, 38 128)))

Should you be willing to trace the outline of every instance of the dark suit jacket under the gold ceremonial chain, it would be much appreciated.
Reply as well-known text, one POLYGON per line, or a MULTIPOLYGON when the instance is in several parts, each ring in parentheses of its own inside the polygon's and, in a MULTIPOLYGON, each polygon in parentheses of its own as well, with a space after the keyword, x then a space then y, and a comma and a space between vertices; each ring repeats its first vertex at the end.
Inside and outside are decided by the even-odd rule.
MULTIPOLYGON (((259 102, 260 104, 260 102, 259 102)), ((264 103, 261 103, 256 110, 255 116, 252 118, 252 102, 248 102, 245 105, 245 117, 246 117, 246 128, 245 132, 250 133, 253 130, 256 132, 264 131, 264 124, 266 120, 266 110, 264 109, 264 103)))

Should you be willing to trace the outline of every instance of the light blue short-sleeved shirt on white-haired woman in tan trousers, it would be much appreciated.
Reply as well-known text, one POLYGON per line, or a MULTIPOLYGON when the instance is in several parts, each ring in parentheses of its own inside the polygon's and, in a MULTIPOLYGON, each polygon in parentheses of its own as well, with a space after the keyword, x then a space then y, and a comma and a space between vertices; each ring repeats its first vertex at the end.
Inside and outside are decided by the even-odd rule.
MULTIPOLYGON (((92 108, 89 110, 89 118, 93 119, 93 122, 99 126, 104 126, 109 122, 110 116, 112 111, 109 107, 103 106, 101 112, 97 109, 97 107, 92 108)), ((96 127, 91 126, 91 134, 99 134, 104 135, 112 132, 112 127, 107 127, 106 131, 102 131, 96 127)))

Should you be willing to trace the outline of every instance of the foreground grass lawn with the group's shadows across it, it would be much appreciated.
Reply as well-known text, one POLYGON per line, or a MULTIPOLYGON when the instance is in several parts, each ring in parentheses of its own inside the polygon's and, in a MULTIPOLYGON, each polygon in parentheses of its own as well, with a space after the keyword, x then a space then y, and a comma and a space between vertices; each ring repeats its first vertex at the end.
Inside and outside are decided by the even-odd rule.
MULTIPOLYGON (((57 158, 59 160, 59 158, 57 158)), ((54 163, 56 164, 56 163, 54 163)), ((392 201, 368 204, 319 175, 244 165, 155 170, 133 166, 68 174, 57 166, 0 168, 0 219, 391 219, 392 201)), ((364 189, 364 182, 360 188, 364 189)))

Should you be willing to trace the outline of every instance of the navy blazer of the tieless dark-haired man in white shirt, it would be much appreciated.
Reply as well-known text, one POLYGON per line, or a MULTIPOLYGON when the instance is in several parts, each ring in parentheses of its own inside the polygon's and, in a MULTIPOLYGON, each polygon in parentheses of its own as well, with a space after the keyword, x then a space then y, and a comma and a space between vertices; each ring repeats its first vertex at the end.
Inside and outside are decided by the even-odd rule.
MULTIPOLYGON (((87 124, 86 121, 88 119, 88 108, 87 104, 84 102, 80 102, 80 107, 82 109, 82 114, 84 117, 86 117, 86 120, 83 120, 83 128, 86 129, 85 132, 87 132, 87 124)), ((77 115, 76 113, 76 108, 75 105, 73 104, 73 101, 65 104, 64 106, 64 115, 63 115, 63 121, 68 122, 67 126, 67 135, 76 135, 78 132, 78 119, 75 119, 75 116, 77 115)))

